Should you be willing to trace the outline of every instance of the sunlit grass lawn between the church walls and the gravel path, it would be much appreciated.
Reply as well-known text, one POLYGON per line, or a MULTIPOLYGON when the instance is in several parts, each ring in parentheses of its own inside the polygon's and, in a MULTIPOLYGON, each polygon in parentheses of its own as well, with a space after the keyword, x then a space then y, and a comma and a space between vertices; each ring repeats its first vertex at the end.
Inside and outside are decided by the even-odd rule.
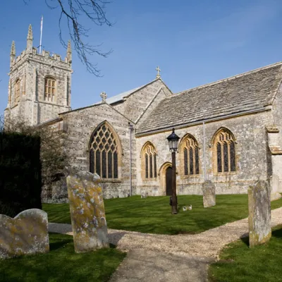
MULTIPOLYGON (((200 233, 247 217, 247 195, 216 195, 216 206, 203 208, 202 196, 178 196, 179 213, 171 214, 169 197, 140 196, 104 200, 109 228, 144 233, 200 233), (192 210, 182 207, 192 204, 192 210)), ((282 207, 282 198, 271 208, 282 207)), ((49 222, 71 223, 68 204, 43 204, 49 222)))

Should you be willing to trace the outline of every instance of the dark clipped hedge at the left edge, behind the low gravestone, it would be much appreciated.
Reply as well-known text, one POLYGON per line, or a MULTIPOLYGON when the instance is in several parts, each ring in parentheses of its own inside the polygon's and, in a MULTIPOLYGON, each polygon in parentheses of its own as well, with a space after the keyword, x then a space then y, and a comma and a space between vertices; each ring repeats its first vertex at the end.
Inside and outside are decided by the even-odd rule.
POLYGON ((40 138, 0 132, 0 214, 42 209, 40 138))

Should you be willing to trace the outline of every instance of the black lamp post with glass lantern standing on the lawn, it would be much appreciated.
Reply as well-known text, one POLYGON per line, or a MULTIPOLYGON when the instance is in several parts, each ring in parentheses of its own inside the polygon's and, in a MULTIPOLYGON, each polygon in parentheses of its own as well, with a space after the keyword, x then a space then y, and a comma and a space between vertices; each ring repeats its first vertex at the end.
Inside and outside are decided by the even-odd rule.
POLYGON ((177 214, 177 197, 176 197, 176 151, 178 149, 178 140, 180 137, 174 133, 174 128, 172 129, 171 135, 167 138, 169 150, 171 151, 171 163, 172 163, 172 197, 171 197, 171 214, 177 214))

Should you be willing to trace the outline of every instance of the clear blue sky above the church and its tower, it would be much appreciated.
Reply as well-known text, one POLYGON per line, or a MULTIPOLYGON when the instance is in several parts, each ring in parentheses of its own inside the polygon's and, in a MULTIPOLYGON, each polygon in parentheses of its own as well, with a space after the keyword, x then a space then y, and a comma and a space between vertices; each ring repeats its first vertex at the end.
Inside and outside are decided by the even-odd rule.
MULTIPOLYGON (((66 1, 66 0, 65 0, 66 1)), ((114 0, 106 8, 112 27, 90 27, 87 41, 103 43, 108 58, 92 56, 102 78, 87 73, 73 54, 71 106, 76 109, 161 78, 173 92, 282 61, 282 1, 279 0, 114 0)), ((44 15, 44 49, 65 56, 59 42, 59 10, 44 0, 9 0, 0 10, 0 114, 8 100, 11 42, 17 55, 26 46, 28 25, 39 45, 44 15)), ((63 30, 68 40, 68 33, 63 30)))

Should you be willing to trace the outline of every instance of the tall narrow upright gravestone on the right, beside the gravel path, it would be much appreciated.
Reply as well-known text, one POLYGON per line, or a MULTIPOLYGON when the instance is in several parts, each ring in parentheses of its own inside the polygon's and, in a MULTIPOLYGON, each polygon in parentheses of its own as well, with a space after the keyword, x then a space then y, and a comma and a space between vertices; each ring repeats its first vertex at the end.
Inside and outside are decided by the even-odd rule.
POLYGON ((258 180, 247 190, 249 200, 250 247, 261 245, 271 238, 270 188, 266 181, 258 180))

